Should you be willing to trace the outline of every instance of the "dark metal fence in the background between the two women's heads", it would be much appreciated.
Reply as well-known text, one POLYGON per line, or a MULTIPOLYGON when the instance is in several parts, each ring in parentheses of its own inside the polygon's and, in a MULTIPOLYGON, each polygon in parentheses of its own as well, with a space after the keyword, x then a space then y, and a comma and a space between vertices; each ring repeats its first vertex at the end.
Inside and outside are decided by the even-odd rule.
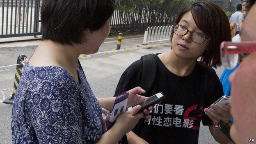
POLYGON ((122 9, 122 3, 117 3, 116 5, 117 9, 111 19, 112 30, 146 30, 147 27, 155 25, 170 25, 174 23, 178 14, 178 8, 169 9, 165 5, 161 7, 149 5, 139 7, 131 2, 130 6, 126 6, 126 9, 122 9), (133 9, 133 11, 127 9, 133 9))

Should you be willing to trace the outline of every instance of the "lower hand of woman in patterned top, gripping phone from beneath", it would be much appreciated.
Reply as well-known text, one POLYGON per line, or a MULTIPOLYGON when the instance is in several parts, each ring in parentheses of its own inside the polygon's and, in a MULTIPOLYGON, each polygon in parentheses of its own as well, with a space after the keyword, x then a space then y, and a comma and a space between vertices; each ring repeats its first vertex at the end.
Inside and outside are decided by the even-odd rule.
POLYGON ((123 135, 130 132, 139 122, 139 119, 141 119, 144 116, 143 112, 139 112, 140 109, 141 106, 137 105, 136 107, 133 107, 131 110, 122 112, 117 117, 117 120, 113 127, 120 129, 123 135))

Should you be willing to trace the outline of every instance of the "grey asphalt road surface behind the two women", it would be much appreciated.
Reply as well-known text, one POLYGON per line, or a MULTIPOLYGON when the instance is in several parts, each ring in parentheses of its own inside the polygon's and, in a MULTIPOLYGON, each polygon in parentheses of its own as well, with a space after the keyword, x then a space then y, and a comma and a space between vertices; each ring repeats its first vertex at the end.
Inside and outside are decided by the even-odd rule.
MULTIPOLYGON (((124 41, 123 48, 137 46, 142 40, 131 39, 124 41)), ((116 47, 115 42, 104 43, 100 51, 111 50, 116 47)), ((24 53, 32 55, 36 46, 0 48, 0 66, 15 64, 17 56, 24 53)), ((139 59, 142 55, 150 53, 163 53, 170 50, 170 46, 158 48, 131 50, 112 54, 93 55, 91 57, 80 57, 80 62, 90 83, 91 89, 97 97, 113 96, 118 80, 123 71, 139 59)), ((15 66, 0 68, 0 90, 12 89, 15 66)), ((220 75, 223 68, 216 69, 220 75)), ((5 98, 9 97, 9 91, 4 91, 5 98)), ((0 100, 3 94, 0 93, 0 100)), ((11 105, 0 103, 0 144, 11 144, 11 105)), ((208 127, 202 126, 199 133, 199 144, 218 144, 211 136, 208 127)))

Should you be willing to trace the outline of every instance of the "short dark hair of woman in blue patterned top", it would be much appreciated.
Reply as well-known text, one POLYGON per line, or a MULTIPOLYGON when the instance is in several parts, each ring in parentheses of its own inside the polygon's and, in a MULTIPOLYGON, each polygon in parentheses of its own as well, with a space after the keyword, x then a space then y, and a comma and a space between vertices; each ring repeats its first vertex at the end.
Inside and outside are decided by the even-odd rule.
POLYGON ((42 39, 67 45, 82 44, 86 41, 85 30, 100 30, 114 8, 115 0, 43 0, 42 39))

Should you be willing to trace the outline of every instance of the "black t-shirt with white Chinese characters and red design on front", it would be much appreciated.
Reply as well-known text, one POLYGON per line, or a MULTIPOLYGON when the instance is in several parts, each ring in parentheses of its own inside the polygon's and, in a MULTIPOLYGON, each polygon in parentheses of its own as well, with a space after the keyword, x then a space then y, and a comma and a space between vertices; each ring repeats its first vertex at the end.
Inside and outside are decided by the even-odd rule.
MULTIPOLYGON (((199 62, 190 75, 180 77, 171 73, 158 56, 156 61, 157 75, 148 96, 162 92, 165 100, 154 106, 151 119, 140 119, 133 132, 150 144, 197 144, 201 120, 205 126, 212 125, 203 109, 223 96, 221 82, 212 68, 199 62), (204 94, 203 71, 210 73, 208 82, 215 82, 211 96, 204 94)), ((138 60, 121 76, 115 96, 137 87, 141 74, 142 60, 138 60)))

